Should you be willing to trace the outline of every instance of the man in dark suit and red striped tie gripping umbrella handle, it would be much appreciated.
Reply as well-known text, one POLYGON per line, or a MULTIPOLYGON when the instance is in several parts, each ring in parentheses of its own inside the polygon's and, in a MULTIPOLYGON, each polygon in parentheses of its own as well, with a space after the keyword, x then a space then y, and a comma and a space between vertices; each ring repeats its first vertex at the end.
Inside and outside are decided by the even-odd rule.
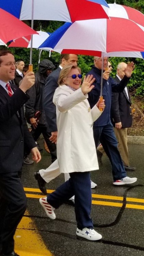
POLYGON ((34 84, 29 72, 20 87, 9 83, 14 79, 13 54, 0 50, 0 255, 18 256, 14 252, 14 233, 26 210, 27 200, 20 181, 24 158, 24 144, 31 150, 33 160, 39 162, 24 118, 23 105, 29 99, 25 93, 34 84))

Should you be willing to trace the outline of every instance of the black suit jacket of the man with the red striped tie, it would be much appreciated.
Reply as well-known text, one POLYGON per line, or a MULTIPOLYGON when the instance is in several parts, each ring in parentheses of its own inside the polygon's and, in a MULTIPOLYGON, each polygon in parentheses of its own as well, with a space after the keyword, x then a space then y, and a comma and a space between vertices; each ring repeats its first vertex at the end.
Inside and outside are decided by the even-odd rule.
POLYGON ((12 97, 0 85, 0 173, 18 172, 24 159, 24 144, 35 147, 24 118, 24 103, 28 95, 11 84, 12 97))

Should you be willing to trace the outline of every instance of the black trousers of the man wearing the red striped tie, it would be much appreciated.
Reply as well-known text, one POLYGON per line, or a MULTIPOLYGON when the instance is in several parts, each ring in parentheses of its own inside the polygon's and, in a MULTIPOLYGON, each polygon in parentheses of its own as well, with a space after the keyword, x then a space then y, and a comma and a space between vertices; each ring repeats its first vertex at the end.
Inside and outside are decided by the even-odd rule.
POLYGON ((14 251, 14 234, 27 207, 27 198, 17 172, 0 174, 0 247, 14 251))

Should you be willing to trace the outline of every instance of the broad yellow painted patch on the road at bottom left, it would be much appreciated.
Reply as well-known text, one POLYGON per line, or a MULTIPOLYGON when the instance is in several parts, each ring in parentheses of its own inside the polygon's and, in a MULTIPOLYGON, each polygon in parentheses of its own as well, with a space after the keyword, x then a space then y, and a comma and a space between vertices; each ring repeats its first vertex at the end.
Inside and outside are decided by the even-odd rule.
MULTIPOLYGON (((29 215, 29 212, 26 211, 29 215)), ((46 248, 43 239, 30 217, 23 217, 19 223, 15 239, 15 251, 20 256, 53 256, 46 248)))

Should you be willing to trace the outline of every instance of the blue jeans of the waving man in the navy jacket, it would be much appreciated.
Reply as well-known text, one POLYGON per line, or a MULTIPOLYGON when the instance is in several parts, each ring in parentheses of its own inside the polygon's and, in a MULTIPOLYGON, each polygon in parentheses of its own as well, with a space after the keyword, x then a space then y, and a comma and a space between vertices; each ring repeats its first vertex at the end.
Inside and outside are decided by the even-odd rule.
POLYGON ((127 176, 120 153, 117 149, 117 139, 114 134, 113 125, 109 122, 105 126, 93 126, 93 137, 96 148, 99 141, 101 142, 106 155, 112 164, 113 179, 120 180, 127 176))

